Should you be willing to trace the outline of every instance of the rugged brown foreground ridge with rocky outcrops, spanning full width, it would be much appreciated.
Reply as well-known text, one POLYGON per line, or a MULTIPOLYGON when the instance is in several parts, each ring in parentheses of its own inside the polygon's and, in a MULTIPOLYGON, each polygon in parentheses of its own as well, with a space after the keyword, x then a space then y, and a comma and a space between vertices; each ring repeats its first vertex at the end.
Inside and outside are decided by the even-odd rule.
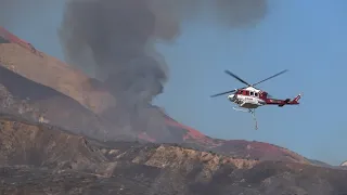
POLYGON ((232 158, 170 144, 98 142, 0 116, 2 194, 296 194, 347 192, 347 171, 232 158))

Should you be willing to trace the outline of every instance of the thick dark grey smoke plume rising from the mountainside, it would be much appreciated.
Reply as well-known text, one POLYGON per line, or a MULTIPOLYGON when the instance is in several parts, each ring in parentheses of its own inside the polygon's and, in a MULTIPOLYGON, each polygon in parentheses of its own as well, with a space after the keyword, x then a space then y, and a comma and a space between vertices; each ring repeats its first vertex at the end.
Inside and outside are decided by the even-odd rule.
POLYGON ((92 67, 116 96, 112 120, 158 132, 164 120, 150 104, 168 75, 155 41, 174 41, 181 23, 205 10, 223 26, 239 27, 262 18, 266 0, 69 0, 59 35, 66 61, 92 67))

